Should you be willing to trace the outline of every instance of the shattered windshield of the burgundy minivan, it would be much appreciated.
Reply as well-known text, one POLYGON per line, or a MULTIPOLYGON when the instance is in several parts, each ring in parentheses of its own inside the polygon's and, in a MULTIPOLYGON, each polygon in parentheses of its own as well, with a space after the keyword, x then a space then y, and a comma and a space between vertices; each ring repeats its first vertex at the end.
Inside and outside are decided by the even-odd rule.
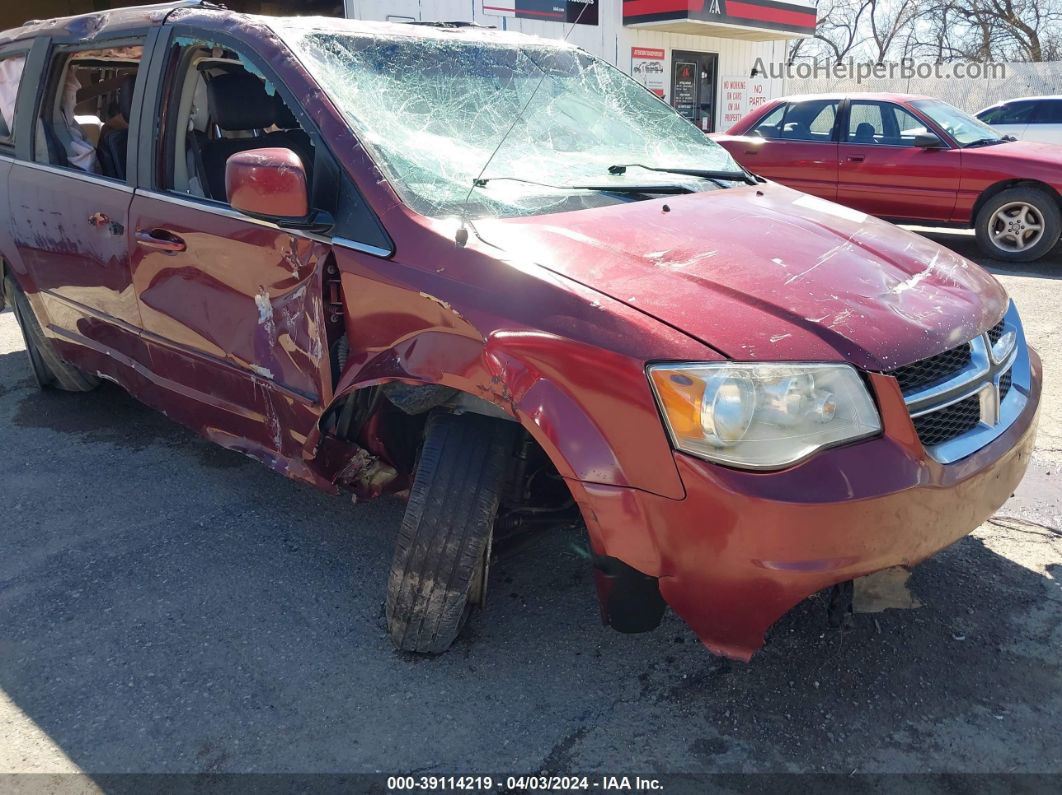
POLYGON ((632 186, 721 185, 640 168, 610 174, 626 163, 740 172, 668 105, 571 47, 456 32, 281 35, 424 215, 538 214, 632 201, 632 186))

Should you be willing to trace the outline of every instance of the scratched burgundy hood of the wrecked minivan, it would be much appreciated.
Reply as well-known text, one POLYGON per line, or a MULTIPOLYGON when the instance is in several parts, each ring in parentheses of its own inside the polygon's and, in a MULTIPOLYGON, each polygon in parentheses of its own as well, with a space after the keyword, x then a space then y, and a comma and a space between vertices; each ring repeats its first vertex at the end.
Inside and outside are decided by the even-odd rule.
POLYGON ((891 369, 975 336, 1007 301, 954 252, 774 184, 476 227, 737 360, 891 369))

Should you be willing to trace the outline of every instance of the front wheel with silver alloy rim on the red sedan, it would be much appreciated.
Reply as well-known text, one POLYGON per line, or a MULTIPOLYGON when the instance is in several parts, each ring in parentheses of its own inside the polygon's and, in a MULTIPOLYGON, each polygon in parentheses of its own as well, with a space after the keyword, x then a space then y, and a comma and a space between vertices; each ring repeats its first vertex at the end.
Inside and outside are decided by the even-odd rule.
POLYGON ((977 244, 990 257, 1031 262, 1047 254, 1062 232, 1058 200, 1039 188, 1010 188, 977 213, 977 244))

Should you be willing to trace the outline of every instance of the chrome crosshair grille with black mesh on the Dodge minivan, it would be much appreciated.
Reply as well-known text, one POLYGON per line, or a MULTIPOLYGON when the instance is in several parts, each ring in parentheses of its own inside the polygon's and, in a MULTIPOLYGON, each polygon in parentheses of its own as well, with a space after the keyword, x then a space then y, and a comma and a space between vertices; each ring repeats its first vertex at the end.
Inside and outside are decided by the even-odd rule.
POLYGON ((969 343, 897 367, 904 402, 930 457, 950 464, 999 436, 1028 400, 1029 353, 1017 310, 969 343))

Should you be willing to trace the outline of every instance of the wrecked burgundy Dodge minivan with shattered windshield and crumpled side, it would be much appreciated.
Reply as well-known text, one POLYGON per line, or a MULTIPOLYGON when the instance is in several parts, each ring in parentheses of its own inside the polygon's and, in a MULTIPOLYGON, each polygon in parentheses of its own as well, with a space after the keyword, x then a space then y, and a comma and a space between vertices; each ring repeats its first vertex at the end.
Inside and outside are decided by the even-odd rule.
POLYGON ((575 47, 119 10, 0 34, 0 117, 37 381, 408 496, 400 649, 453 641, 493 537, 575 520, 606 622, 670 605, 748 659, 1028 463, 1040 360, 995 279, 752 176, 575 47))

